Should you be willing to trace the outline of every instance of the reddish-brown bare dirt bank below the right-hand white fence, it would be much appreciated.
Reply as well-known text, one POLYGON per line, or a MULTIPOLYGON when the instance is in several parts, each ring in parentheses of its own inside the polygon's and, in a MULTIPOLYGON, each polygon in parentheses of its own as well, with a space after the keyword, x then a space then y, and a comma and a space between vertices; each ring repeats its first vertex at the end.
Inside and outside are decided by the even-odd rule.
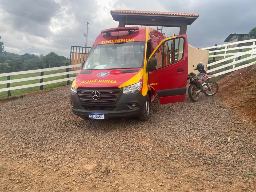
POLYGON ((234 71, 219 79, 217 94, 227 107, 247 119, 256 119, 256 66, 234 71))

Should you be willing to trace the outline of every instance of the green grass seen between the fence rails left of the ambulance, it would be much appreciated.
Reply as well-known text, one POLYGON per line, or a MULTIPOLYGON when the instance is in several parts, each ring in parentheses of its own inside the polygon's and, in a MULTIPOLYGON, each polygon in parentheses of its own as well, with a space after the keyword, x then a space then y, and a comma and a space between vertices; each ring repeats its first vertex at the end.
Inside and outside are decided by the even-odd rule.
MULTIPOLYGON (((55 70, 55 71, 45 71, 43 74, 44 75, 50 75, 50 74, 63 73, 63 72, 66 72, 66 69, 55 70)), ((40 76, 40 75, 41 75, 41 73, 11 75, 10 79, 21 79, 21 78, 27 78, 27 77, 36 77, 36 76, 40 76)), ((69 77, 73 77, 73 76, 74 76, 74 74, 69 75, 69 77)), ((43 82, 53 81, 53 80, 57 80, 57 79, 65 79, 65 78, 66 78, 66 75, 61 75, 61 76, 57 76, 57 77, 45 78, 45 79, 43 79, 43 82)), ((6 81, 6 80, 7 80, 7 77, 0 77, 0 81, 6 81)), ((10 83, 10 87, 39 83, 39 81, 40 81, 40 79, 10 83)), ((70 81, 70 84, 72 82, 73 81, 70 81)), ((59 86, 65 86, 65 85, 67 85, 66 81, 59 82, 59 83, 53 83, 53 84, 49 84, 49 85, 44 85, 43 89, 46 90, 46 89, 51 89, 51 88, 55 88, 55 87, 59 87, 59 86)), ((7 88, 7 84, 0 85, 0 89, 2 89, 2 88, 7 88)), ((31 93, 33 91, 38 91, 38 90, 40 90, 40 86, 29 87, 29 88, 24 88, 24 89, 17 89, 17 90, 11 90, 11 96, 23 95, 23 94, 31 93)), ((0 98, 4 98, 4 97, 7 97, 7 91, 0 92, 0 98)))

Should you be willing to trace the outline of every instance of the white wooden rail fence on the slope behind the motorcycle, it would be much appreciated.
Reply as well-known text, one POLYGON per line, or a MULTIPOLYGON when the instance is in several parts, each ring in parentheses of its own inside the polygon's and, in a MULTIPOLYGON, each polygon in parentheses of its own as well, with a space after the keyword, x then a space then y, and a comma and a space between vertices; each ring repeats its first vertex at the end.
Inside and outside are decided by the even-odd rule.
POLYGON ((241 63, 241 62, 244 62, 244 61, 248 61, 249 59, 256 58, 256 49, 254 49, 254 48, 256 48, 255 41, 256 41, 256 39, 249 39, 249 40, 245 40, 245 41, 238 41, 238 42, 234 42, 234 43, 227 43, 227 44, 223 44, 223 45, 215 45, 215 46, 212 46, 212 47, 203 48, 203 50, 214 49, 213 51, 209 51, 209 53, 213 53, 214 55, 209 55, 209 58, 213 57, 213 62, 207 64, 207 67, 208 67, 207 72, 211 73, 213 71, 217 71, 219 69, 223 69, 225 67, 229 67, 229 66, 233 65, 232 69, 227 69, 225 71, 221 71, 221 72, 218 72, 218 73, 215 73, 215 74, 211 73, 213 75, 218 76, 218 75, 223 75, 223 74, 226 74, 226 73, 230 73, 232 71, 235 71, 235 70, 238 70, 238 69, 242 69, 244 67, 248 67, 250 65, 255 64, 256 63, 256 59, 253 62, 247 62, 244 65, 235 67, 235 65, 238 64, 238 63, 241 63), (236 45, 236 44, 240 44, 240 43, 241 44, 242 43, 247 43, 247 44, 250 43, 252 45, 240 46, 240 47, 237 46, 237 47, 233 47, 233 48, 227 48, 229 45, 236 45), (219 48, 219 47, 222 47, 222 48, 225 47, 225 49, 218 49, 217 50, 217 48, 219 48), (227 51, 238 50, 238 49, 239 49, 239 52, 227 53, 227 51), (242 52, 243 49, 251 49, 251 50, 242 52), (218 52, 224 52, 224 54, 216 54, 218 52), (243 55, 250 55, 250 56, 241 59, 241 56, 243 56, 243 55), (226 57, 226 56, 231 56, 231 57, 226 57), (216 57, 224 57, 224 58, 219 60, 219 61, 215 61, 216 57), (235 61, 236 58, 238 58, 237 61, 235 61), (224 63, 225 61, 228 61, 228 60, 231 60, 231 59, 233 59, 233 62, 230 62, 228 64, 224 63), (219 66, 215 67, 217 64, 219 64, 219 66), (211 66, 214 66, 214 68, 211 67, 211 66))

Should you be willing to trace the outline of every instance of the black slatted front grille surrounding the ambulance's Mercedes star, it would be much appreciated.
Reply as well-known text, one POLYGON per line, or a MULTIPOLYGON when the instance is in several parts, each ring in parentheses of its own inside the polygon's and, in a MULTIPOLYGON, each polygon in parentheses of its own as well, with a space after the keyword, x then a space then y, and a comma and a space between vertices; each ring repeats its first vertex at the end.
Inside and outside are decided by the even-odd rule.
POLYGON ((115 103, 121 96, 118 87, 78 87, 77 94, 79 101, 86 104, 110 104, 115 103), (99 99, 95 100, 92 97, 93 91, 100 93, 99 99))

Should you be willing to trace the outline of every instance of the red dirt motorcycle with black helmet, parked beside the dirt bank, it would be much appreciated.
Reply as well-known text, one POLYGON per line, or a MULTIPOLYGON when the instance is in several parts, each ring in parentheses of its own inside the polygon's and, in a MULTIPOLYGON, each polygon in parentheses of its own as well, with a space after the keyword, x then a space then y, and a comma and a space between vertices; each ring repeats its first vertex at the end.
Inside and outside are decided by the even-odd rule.
MULTIPOLYGON (((193 67, 195 66, 193 65, 193 67)), ((206 96, 215 95, 219 90, 219 85, 215 81, 208 81, 207 78, 216 76, 207 75, 203 63, 198 63, 197 68, 194 70, 199 71, 199 73, 197 75, 195 73, 187 75, 187 84, 190 84, 188 93, 191 101, 197 102, 200 92, 203 92, 206 96)))

